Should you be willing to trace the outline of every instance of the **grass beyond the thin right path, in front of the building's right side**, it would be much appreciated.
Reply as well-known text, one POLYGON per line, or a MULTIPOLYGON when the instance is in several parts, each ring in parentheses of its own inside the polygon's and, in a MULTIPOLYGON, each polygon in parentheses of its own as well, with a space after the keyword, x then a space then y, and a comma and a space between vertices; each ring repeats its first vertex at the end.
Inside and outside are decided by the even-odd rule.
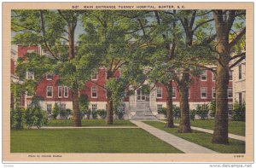
MULTIPOLYGON (((174 123, 179 123, 179 120, 174 120, 174 123)), ((191 126, 196 126, 204 129, 214 129, 214 119, 195 119, 190 120, 191 126)), ((243 121, 229 121, 229 133, 239 136, 245 136, 245 122, 243 121)))

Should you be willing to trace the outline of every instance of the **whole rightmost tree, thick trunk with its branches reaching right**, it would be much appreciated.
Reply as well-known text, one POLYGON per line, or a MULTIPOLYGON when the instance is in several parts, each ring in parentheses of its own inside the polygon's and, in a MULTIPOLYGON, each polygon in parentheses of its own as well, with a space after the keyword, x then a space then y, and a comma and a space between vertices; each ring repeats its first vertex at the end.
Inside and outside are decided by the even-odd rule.
MULTIPOLYGON (((238 43, 243 43, 243 38, 246 33, 244 23, 245 12, 240 10, 214 10, 213 17, 215 21, 215 29, 217 41, 215 51, 216 59, 216 114, 215 126, 212 136, 213 143, 229 143, 228 137, 228 98, 227 90, 229 85, 230 68, 236 66, 239 62, 245 59, 245 46, 242 50, 234 49, 238 43), (235 23, 236 18, 241 21, 235 23), (237 26, 238 25, 238 26, 237 26), (234 27, 235 26, 235 27, 234 27), (235 30, 233 30, 233 28, 235 30), (235 32, 233 32, 235 31, 235 32), (235 35, 236 34, 236 35, 235 35), (231 52, 237 55, 231 55, 231 52), (243 52, 244 51, 244 52, 243 52), (235 62, 230 65, 230 61, 235 62)), ((237 21, 237 20, 236 20, 237 21)))

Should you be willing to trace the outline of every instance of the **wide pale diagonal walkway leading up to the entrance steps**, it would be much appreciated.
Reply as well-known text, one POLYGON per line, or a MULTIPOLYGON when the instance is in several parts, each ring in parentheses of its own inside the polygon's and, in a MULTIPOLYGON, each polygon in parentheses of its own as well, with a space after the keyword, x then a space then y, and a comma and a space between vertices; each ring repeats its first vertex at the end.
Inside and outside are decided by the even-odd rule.
POLYGON ((186 154, 218 154, 211 149, 201 147, 200 145, 186 141, 183 138, 173 136, 172 134, 167 133, 164 130, 159 130, 157 128, 154 128, 153 126, 146 125, 142 121, 131 120, 131 123, 137 125, 143 130, 148 131, 153 136, 160 138, 160 140, 169 143, 173 147, 183 151, 186 154))

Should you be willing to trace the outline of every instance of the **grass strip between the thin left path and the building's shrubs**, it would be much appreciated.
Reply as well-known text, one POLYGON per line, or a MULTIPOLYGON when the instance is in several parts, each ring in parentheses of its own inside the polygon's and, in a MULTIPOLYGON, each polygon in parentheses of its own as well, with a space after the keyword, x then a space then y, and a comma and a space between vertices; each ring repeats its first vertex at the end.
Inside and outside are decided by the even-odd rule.
MULTIPOLYGON (((47 126, 73 126, 72 119, 50 119, 47 126)), ((107 125, 105 119, 82 119, 82 126, 136 126, 129 120, 113 119, 113 125, 107 125)))

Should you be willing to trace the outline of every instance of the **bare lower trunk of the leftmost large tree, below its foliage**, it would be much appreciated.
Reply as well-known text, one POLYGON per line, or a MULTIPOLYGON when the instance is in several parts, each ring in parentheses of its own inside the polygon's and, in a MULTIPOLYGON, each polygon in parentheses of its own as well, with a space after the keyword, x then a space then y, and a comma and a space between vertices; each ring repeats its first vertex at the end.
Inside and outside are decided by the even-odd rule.
POLYGON ((72 90, 73 96, 73 126, 82 126, 79 114, 79 90, 72 90))

